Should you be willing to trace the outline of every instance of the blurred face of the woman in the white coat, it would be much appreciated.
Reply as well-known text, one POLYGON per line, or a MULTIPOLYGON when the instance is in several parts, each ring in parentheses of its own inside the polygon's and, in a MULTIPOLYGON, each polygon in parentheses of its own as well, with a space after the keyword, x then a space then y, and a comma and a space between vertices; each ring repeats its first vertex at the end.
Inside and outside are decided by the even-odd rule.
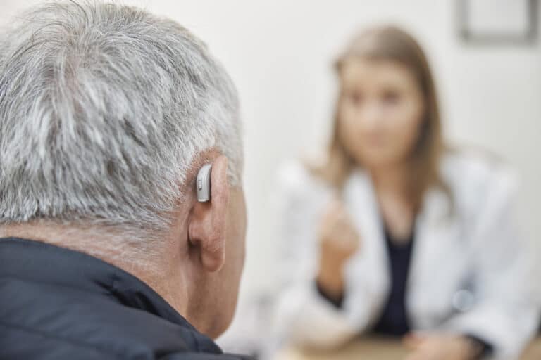
POLYGON ((408 158, 423 118, 423 94, 413 73, 392 60, 346 60, 340 71, 340 140, 365 167, 408 158))

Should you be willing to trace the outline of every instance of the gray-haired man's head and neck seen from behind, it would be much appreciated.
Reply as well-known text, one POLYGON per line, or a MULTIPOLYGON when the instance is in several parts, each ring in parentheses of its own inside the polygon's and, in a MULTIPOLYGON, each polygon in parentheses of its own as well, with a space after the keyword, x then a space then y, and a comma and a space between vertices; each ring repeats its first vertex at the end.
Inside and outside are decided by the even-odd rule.
POLYGON ((0 234, 128 269, 218 335, 246 226, 225 70, 184 27, 113 4, 40 6, 0 49, 0 234), (206 163, 212 198, 199 203, 206 163))

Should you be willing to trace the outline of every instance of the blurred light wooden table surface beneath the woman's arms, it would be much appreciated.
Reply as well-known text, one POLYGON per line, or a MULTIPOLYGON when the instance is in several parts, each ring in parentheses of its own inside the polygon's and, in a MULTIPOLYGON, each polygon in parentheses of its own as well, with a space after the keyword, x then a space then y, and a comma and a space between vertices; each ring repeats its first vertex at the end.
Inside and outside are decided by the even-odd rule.
MULTIPOLYGON (((361 338, 332 352, 284 349, 275 360, 402 360, 406 354, 406 349, 397 340, 361 338)), ((530 344, 520 360, 541 360, 541 338, 530 344)))

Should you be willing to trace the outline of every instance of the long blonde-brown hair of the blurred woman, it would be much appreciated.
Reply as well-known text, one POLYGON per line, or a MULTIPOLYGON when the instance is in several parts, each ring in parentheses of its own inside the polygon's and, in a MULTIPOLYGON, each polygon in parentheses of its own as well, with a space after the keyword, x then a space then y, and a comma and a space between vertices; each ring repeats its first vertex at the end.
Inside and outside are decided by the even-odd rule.
MULTIPOLYGON (((440 176, 440 159, 445 151, 440 109, 430 66, 421 46, 411 35, 397 27, 376 27, 354 37, 346 51, 337 59, 335 70, 340 73, 344 61, 351 58, 396 61, 406 65, 416 77, 419 89, 423 94, 425 113, 418 141, 411 153, 411 172, 409 172, 411 176, 407 179, 411 201, 418 209, 425 191, 433 186, 442 189, 444 193, 447 193, 449 200, 452 200, 449 188, 440 176)), ((335 105, 328 159, 322 166, 309 167, 312 172, 337 188, 338 191, 342 191, 344 181, 357 165, 340 138, 338 108, 342 96, 341 90, 335 105)))

